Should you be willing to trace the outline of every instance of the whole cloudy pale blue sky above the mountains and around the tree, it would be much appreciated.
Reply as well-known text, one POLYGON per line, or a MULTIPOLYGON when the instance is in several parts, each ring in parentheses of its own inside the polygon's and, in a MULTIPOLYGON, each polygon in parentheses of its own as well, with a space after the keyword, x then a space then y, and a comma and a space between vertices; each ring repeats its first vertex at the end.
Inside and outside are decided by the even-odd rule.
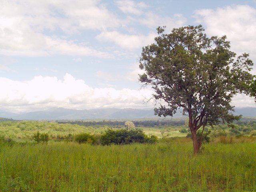
MULTIPOLYGON (((0 110, 152 108, 142 47, 158 26, 198 24, 256 63, 256 0, 1 0, 0 110)), ((244 95, 232 104, 256 106, 244 95)))

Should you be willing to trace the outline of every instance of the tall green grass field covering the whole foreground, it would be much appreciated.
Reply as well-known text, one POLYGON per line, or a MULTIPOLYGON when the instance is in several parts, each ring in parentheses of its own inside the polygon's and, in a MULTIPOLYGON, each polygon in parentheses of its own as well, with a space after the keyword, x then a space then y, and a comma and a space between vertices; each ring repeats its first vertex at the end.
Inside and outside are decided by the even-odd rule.
POLYGON ((0 145, 1 192, 256 191, 256 143, 0 145))

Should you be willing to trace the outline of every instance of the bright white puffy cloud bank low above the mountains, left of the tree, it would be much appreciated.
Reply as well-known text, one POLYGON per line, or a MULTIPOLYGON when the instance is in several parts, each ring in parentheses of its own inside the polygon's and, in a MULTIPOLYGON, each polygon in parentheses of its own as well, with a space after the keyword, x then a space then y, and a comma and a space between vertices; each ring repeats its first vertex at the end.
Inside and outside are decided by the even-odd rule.
POLYGON ((0 107, 12 112, 44 110, 52 107, 89 109, 101 107, 144 108, 150 90, 92 88, 83 80, 66 74, 56 77, 36 76, 28 81, 0 78, 0 107))

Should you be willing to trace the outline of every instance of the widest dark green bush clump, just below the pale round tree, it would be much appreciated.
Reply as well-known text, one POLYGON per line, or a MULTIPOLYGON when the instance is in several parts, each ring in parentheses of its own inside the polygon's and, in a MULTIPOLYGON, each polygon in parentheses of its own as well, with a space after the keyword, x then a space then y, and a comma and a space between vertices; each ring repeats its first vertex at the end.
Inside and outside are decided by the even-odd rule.
POLYGON ((154 143, 156 142, 156 136, 148 137, 144 134, 144 132, 140 129, 134 130, 112 130, 108 129, 101 136, 101 144, 102 145, 110 145, 110 144, 130 144, 130 143, 154 143))

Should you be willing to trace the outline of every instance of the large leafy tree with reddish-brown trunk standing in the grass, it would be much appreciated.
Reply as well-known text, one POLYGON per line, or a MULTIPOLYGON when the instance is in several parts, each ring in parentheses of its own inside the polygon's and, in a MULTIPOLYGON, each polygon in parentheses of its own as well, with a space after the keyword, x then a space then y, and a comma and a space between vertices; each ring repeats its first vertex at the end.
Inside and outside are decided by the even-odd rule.
POLYGON ((230 102, 238 93, 249 93, 253 62, 246 53, 230 51, 226 36, 208 38, 201 25, 174 28, 170 34, 164 30, 158 27, 155 43, 142 48, 140 68, 145 73, 139 80, 154 89, 153 98, 160 104, 156 115, 172 116, 183 108, 196 154, 207 124, 240 118, 232 114, 230 102))

